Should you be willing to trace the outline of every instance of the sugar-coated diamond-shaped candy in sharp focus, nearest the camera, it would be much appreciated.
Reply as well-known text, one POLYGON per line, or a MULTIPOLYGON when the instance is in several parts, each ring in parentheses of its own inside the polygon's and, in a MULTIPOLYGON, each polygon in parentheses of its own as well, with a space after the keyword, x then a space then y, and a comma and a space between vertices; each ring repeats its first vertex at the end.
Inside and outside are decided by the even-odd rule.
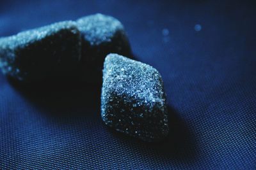
POLYGON ((163 80, 152 66, 109 54, 104 62, 101 116, 106 125, 143 141, 168 135, 163 80))

